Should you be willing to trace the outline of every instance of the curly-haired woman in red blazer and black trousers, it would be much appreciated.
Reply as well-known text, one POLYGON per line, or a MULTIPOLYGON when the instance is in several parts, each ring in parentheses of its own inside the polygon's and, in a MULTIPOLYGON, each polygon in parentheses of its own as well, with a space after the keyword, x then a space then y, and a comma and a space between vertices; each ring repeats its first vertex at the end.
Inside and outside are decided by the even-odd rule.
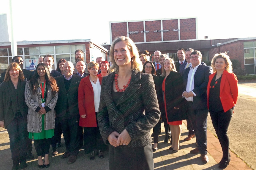
POLYGON ((238 80, 232 71, 231 64, 227 54, 215 54, 211 60, 214 73, 209 76, 207 86, 208 109, 222 147, 223 156, 219 162, 219 168, 222 169, 226 168, 230 162, 227 129, 238 98, 238 80))

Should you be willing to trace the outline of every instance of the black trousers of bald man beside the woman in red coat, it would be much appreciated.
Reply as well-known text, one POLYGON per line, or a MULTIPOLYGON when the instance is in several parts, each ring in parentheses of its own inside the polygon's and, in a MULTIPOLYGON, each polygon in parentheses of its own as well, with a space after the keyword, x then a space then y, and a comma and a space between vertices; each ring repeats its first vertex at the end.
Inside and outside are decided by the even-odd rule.
POLYGON ((65 145, 67 152, 70 155, 77 156, 79 149, 81 148, 81 136, 83 135, 83 128, 79 124, 80 115, 71 116, 66 113, 63 117, 58 117, 58 121, 61 124, 65 145))

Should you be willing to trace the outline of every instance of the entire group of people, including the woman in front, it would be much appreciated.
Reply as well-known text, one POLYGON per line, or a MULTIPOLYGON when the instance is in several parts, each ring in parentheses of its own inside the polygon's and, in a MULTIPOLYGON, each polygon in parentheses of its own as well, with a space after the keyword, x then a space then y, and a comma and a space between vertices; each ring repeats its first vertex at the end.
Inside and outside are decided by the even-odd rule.
POLYGON ((149 61, 151 54, 144 52, 139 55, 135 43, 121 36, 110 47, 111 66, 102 57, 86 64, 78 49, 75 64, 61 59, 55 71, 53 57, 46 55, 28 82, 19 64, 10 64, 0 85, 0 126, 10 136, 12 169, 19 163, 26 168, 26 138, 34 139, 39 168, 49 167, 50 145, 58 154, 53 143, 63 133, 67 151, 61 158, 69 157, 68 164, 83 145, 91 160, 95 154, 104 158, 105 143, 110 170, 153 170, 161 123, 164 142, 172 138, 173 154, 179 150, 184 119, 189 130, 185 140, 196 137, 197 142, 190 153, 200 153, 207 163, 208 111, 222 146, 219 167, 225 168, 230 162, 227 129, 238 97, 229 56, 216 54, 209 67, 201 62, 200 51, 191 48, 179 48, 176 63, 160 51, 149 61))

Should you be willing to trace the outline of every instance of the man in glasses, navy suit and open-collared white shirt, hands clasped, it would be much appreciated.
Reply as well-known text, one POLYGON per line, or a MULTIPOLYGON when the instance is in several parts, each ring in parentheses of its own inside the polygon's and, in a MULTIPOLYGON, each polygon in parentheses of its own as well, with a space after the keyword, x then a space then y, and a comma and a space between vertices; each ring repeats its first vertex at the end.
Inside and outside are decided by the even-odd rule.
POLYGON ((207 163, 207 84, 212 68, 202 65, 202 54, 200 51, 193 51, 190 56, 191 67, 184 70, 183 82, 184 92, 182 96, 186 99, 186 107, 192 127, 195 130, 197 148, 190 153, 201 154, 203 163, 207 163))

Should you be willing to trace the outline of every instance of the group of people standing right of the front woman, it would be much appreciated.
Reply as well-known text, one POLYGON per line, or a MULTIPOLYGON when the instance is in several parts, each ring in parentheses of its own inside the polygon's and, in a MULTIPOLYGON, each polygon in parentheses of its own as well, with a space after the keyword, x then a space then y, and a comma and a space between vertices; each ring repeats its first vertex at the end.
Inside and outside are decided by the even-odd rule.
MULTIPOLYGON (((147 51, 140 55, 142 63, 142 59, 145 59, 143 55, 147 55, 147 51)), ((207 116, 210 112, 222 146, 223 156, 219 168, 226 168, 230 162, 227 129, 238 98, 238 80, 233 74, 230 58, 225 53, 216 54, 209 67, 201 61, 200 51, 194 51, 192 48, 186 51, 179 48, 177 57, 178 61, 174 62, 166 54, 155 51, 154 62, 145 61, 143 68, 143 72, 153 75, 156 92, 160 93, 157 96, 160 96, 158 103, 161 119, 165 124, 164 142, 168 142, 171 133, 169 150, 171 154, 178 152, 182 120, 187 119, 189 135, 184 140, 188 141, 196 136, 197 147, 190 153, 200 153, 203 163, 207 163, 209 159, 206 130, 207 116), (157 90, 157 87, 161 89, 157 90)), ((159 124, 161 123, 153 128, 153 152, 157 150, 161 128, 159 124)))

